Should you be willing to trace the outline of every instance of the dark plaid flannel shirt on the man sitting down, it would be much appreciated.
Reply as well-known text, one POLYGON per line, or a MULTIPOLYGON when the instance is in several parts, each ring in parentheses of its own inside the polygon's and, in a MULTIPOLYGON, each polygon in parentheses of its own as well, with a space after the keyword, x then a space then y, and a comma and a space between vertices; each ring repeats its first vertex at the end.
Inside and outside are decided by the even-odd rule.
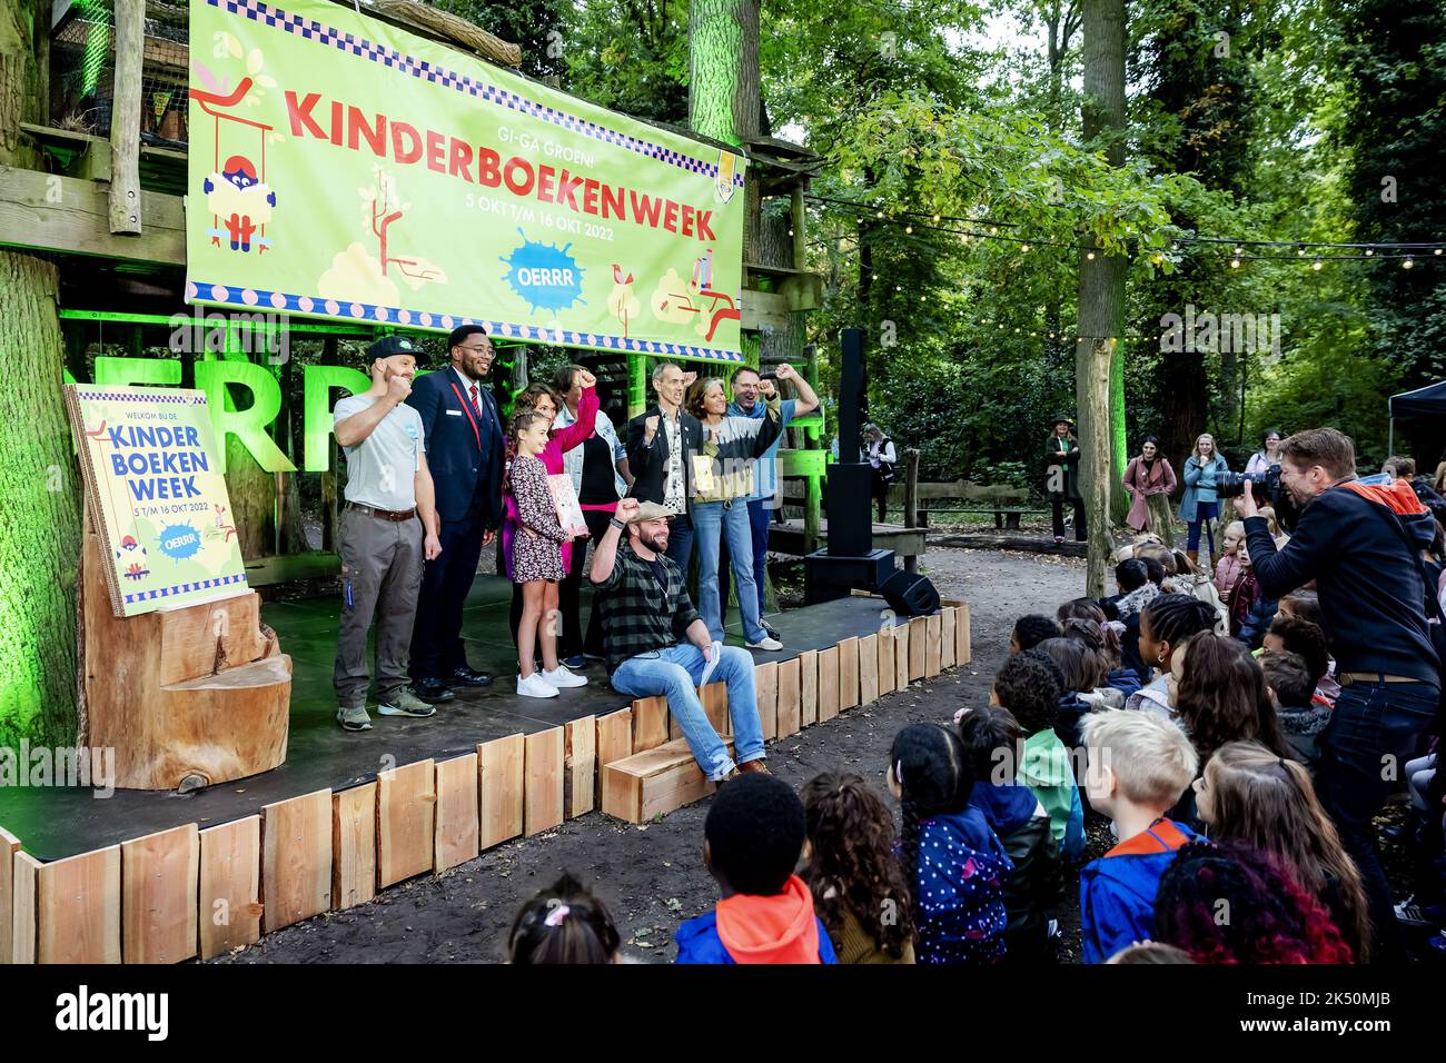
POLYGON ((603 610, 609 675, 630 657, 655 654, 684 641, 688 625, 698 619, 678 565, 667 554, 658 554, 658 561, 668 574, 667 589, 625 538, 617 544, 613 571, 603 583, 593 584, 593 607, 603 610))

